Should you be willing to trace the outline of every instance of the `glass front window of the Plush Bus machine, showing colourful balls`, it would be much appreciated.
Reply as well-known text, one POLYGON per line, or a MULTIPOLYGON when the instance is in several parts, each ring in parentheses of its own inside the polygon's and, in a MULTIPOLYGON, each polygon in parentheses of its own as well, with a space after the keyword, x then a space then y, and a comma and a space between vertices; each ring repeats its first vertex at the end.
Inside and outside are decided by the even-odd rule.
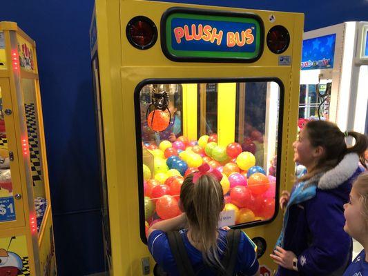
POLYGON ((150 84, 141 89, 139 99, 143 150, 139 169, 144 177, 146 230, 155 221, 180 214, 177 200, 184 177, 203 163, 222 172, 224 212, 233 216, 231 225, 273 217, 280 112, 278 83, 150 84), (175 98, 179 91, 182 95, 175 98), (163 106, 153 100, 157 92, 169 96, 168 102, 162 101, 163 106), (193 95, 200 97, 193 101, 193 95), (189 104, 174 99, 184 99, 189 104), (167 113, 149 116, 155 110, 164 110, 166 104, 167 113), (184 106, 180 110, 185 118, 184 131, 182 128, 173 137, 170 134, 175 132, 175 110, 179 106, 184 106), (186 114, 188 110, 200 112, 193 116, 186 114), (153 124, 165 122, 166 129, 154 130, 153 124), (215 132, 207 132, 207 126, 215 132))

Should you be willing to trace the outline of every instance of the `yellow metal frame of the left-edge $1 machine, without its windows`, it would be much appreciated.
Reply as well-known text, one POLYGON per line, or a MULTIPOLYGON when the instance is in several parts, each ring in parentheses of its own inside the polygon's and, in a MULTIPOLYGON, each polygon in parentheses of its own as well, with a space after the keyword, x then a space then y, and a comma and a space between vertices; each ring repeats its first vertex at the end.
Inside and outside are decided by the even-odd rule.
MULTIPOLYGON (((11 115, 6 115, 6 132, 8 138, 8 150, 14 154, 14 161, 11 164, 13 194, 20 194, 21 199, 14 199, 16 204, 16 221, 0 223, 0 239, 12 236, 26 237, 26 252, 28 252, 28 264, 30 275, 42 275, 46 265, 55 268, 55 254, 53 250, 52 237, 52 212, 50 201, 50 188, 48 183, 48 167, 46 159, 46 144, 43 132, 43 118, 41 109, 41 95, 39 91, 39 77, 37 66, 36 44, 28 34, 14 22, 0 22, 0 32, 5 37, 6 50, 6 69, 0 70, 0 86, 3 97, 3 108, 12 110, 11 115), (20 68, 14 70, 12 65, 12 50, 17 49, 17 41, 21 39, 26 41, 32 48, 34 70, 20 68), (43 174, 43 184, 46 193, 48 206, 43 216, 43 221, 39 233, 31 230, 30 218, 35 219, 35 205, 32 188, 32 175, 30 171, 30 156, 23 155, 25 141, 28 137, 26 128, 26 115, 24 110, 24 101, 22 94, 21 79, 30 79, 32 86, 35 87, 35 110, 38 121, 38 139, 39 139, 39 159, 43 174), (52 245, 51 245, 52 244, 52 245), (51 258, 50 258, 51 256, 51 258), (53 258, 53 259, 52 259, 53 258)), ((17 51, 18 52, 18 51, 17 51)), ((26 145, 28 148, 28 145, 26 145)))

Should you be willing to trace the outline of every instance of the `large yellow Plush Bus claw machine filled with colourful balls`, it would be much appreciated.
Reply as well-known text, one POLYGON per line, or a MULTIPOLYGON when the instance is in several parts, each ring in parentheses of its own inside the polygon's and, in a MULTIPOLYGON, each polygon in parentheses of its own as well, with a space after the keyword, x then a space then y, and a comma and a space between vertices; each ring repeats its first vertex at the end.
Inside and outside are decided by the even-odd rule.
POLYGON ((222 170, 219 225, 258 246, 262 275, 291 188, 303 15, 154 1, 95 2, 90 50, 106 266, 160 275, 146 230, 179 215, 183 178, 222 170))

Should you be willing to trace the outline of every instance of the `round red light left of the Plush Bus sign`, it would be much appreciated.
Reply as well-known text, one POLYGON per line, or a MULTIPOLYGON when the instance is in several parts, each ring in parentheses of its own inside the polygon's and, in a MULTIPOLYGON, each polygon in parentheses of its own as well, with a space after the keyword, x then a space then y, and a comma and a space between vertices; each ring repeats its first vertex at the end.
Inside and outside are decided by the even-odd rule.
POLYGON ((134 17, 126 26, 126 37, 135 48, 145 50, 157 41, 157 28, 148 17, 134 17))

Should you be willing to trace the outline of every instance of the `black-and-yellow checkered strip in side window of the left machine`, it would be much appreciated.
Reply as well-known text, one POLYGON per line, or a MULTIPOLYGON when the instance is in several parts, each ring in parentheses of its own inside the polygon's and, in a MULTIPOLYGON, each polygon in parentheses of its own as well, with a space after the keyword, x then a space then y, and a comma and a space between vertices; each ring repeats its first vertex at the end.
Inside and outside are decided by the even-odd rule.
POLYGON ((26 109, 28 144, 30 147, 30 166, 32 169, 33 186, 42 184, 41 163, 39 161, 39 139, 37 135, 37 121, 35 103, 24 105, 26 109))

